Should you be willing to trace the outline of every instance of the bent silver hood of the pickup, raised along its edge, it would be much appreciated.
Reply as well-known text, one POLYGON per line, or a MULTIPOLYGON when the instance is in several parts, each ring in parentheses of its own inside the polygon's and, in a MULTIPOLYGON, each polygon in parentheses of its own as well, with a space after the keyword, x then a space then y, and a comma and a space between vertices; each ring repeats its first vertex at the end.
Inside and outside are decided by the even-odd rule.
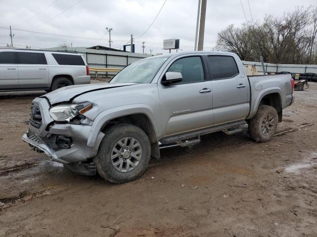
POLYGON ((96 84, 83 84, 83 85, 70 85, 59 88, 41 97, 47 98, 51 105, 60 102, 71 102, 79 95, 89 93, 96 90, 106 90, 110 88, 129 86, 137 83, 96 83, 96 84))

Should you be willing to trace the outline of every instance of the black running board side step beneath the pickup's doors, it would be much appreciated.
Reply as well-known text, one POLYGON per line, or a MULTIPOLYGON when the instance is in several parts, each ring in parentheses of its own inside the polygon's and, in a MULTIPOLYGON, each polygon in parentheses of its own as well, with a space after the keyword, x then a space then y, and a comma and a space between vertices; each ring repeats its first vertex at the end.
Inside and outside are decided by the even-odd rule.
POLYGON ((177 143, 178 145, 182 147, 190 146, 190 145, 199 143, 201 135, 205 135, 205 134, 209 134, 213 132, 219 132, 219 131, 223 131, 224 133, 228 135, 231 135, 236 132, 241 132, 242 131, 241 126, 244 124, 246 124, 246 121, 233 122, 229 124, 207 128, 207 129, 196 131, 196 132, 186 133, 179 136, 163 138, 159 142, 161 143, 161 145, 177 143))

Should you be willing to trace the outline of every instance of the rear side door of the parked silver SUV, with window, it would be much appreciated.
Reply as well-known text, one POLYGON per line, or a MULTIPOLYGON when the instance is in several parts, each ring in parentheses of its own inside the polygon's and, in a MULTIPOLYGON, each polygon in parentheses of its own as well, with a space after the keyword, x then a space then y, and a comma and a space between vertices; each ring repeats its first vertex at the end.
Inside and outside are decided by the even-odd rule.
POLYGON ((17 52, 20 88, 49 87, 49 70, 44 53, 17 52))

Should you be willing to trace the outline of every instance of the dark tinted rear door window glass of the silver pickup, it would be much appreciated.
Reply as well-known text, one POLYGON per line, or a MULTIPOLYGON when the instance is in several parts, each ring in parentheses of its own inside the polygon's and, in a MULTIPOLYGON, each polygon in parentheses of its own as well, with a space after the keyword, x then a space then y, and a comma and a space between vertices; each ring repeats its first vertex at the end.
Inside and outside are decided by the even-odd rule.
POLYGON ((233 57, 208 56, 213 79, 233 78, 239 74, 239 70, 233 57))

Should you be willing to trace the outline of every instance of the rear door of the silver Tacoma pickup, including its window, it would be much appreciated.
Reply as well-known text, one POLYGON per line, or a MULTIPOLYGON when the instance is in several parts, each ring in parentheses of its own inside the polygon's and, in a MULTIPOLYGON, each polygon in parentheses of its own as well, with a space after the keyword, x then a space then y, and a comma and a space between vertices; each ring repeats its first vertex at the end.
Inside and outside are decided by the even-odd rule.
POLYGON ((250 110, 250 88, 238 58, 227 55, 208 55, 213 88, 214 124, 246 118, 250 110))

